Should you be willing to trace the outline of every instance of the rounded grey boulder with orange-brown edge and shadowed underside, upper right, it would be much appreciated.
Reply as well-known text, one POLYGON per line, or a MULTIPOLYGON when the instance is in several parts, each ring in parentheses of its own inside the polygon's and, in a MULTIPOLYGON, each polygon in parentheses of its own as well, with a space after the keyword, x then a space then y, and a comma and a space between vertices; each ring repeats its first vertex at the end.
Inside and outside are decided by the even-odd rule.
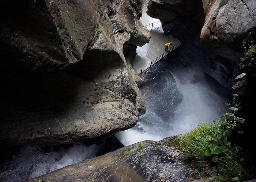
POLYGON ((219 7, 219 0, 208 1, 205 24, 201 32, 202 46, 213 56, 239 63, 242 41, 256 25, 256 1, 229 0, 219 7))

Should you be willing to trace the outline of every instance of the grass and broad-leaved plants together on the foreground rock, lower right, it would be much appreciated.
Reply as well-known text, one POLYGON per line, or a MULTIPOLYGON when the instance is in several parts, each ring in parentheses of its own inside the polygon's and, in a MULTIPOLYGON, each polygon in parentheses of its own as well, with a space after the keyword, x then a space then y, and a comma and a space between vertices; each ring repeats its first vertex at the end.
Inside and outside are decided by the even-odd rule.
POLYGON ((198 170, 199 178, 214 181, 240 181, 246 176, 241 163, 241 147, 232 141, 231 134, 242 134, 244 119, 234 116, 237 94, 233 94, 233 106, 227 104, 231 112, 224 114, 213 124, 202 124, 178 138, 177 148, 183 150, 184 157, 191 159, 198 170))

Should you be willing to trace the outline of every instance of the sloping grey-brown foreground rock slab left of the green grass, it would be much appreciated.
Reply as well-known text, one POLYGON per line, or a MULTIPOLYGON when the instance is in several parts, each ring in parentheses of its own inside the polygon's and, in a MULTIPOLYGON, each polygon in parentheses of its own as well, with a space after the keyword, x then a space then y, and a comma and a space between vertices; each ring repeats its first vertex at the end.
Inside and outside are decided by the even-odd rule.
MULTIPOLYGON (((175 136, 159 142, 146 141, 146 147, 136 151, 136 145, 123 147, 94 159, 88 159, 52 171, 41 178, 61 182, 93 181, 192 181, 191 167, 181 151, 173 147, 175 136), (127 152, 126 157, 122 155, 127 152)), ((30 181, 33 181, 31 179, 30 181)))

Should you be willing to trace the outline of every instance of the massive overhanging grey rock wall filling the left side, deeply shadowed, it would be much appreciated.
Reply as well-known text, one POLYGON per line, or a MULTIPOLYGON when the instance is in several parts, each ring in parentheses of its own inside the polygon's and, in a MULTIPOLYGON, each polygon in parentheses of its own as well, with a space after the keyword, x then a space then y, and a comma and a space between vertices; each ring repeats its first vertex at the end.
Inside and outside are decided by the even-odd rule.
POLYGON ((138 20, 141 5, 6 0, 0 145, 96 143, 136 124, 145 106, 123 45, 150 39, 138 20))

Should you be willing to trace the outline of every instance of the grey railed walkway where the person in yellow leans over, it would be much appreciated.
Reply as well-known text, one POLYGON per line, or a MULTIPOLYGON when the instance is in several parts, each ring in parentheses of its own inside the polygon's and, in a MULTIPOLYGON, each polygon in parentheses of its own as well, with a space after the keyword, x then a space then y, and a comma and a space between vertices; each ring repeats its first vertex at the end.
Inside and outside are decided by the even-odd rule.
POLYGON ((151 31, 151 40, 143 47, 137 47, 138 54, 133 62, 133 68, 139 75, 147 71, 151 66, 165 58, 170 52, 176 50, 176 48, 181 45, 180 40, 173 36, 163 34, 160 21, 148 24, 145 27, 151 31), (174 48, 171 48, 169 52, 164 51, 167 42, 172 42, 174 45, 174 48), (155 58, 155 55, 159 56, 155 58))

